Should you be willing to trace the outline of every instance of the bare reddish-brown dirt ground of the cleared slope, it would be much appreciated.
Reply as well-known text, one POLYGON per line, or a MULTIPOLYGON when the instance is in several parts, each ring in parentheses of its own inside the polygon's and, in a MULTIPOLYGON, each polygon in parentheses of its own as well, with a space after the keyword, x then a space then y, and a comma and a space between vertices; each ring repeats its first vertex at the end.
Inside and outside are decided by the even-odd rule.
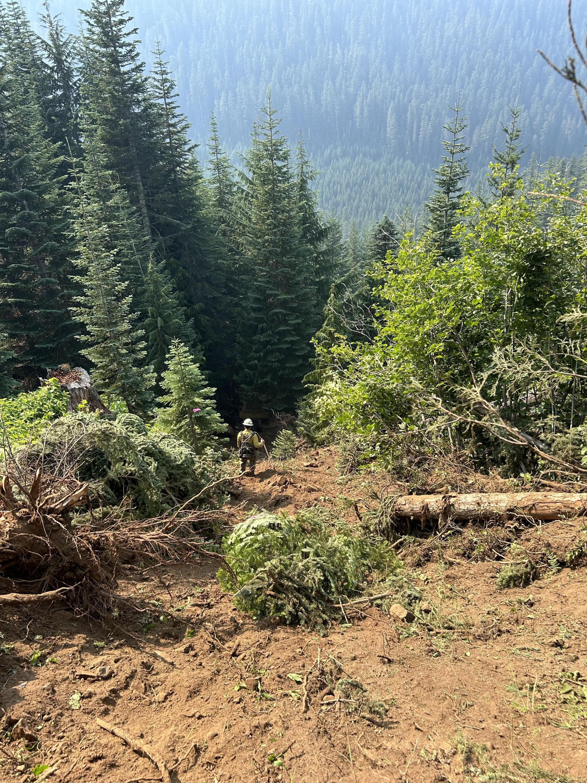
MULTIPOLYGON (((254 506, 315 503, 356 519, 385 477, 340 478, 335 457, 259 464, 228 501, 235 521, 254 506)), ((558 521, 517 538, 567 551, 584 528, 558 521)), ((502 565, 434 539, 426 556, 408 553, 430 607, 453 619, 432 630, 368 606, 325 637, 255 622, 222 594, 211 562, 126 568, 121 592, 146 611, 109 629, 59 604, 2 610, 0 778, 161 779, 99 719, 156 750, 182 783, 457 783, 492 770, 485 781, 585 780, 587 570, 547 569, 499 590, 502 565), (329 695, 329 673, 356 680, 387 717, 329 695)))

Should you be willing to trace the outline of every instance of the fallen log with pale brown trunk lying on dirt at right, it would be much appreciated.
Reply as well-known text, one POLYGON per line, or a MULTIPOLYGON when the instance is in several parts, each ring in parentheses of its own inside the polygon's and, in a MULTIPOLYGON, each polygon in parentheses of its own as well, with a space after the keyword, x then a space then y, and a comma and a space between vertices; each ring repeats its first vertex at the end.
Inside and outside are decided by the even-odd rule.
POLYGON ((396 517, 490 520, 522 517, 553 521, 587 513, 587 493, 528 492, 450 495, 402 495, 394 503, 396 517))

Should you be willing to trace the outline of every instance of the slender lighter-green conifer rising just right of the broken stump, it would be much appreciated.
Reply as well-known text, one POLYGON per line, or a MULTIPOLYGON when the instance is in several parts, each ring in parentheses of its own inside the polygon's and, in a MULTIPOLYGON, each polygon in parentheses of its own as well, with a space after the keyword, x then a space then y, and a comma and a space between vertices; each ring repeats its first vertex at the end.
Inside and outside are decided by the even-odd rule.
MULTIPOLYGON (((96 154, 95 158, 98 157, 96 154)), ((131 258, 133 248, 111 247, 113 220, 104 219, 103 172, 98 179, 92 164, 78 171, 74 164, 74 192, 77 239, 77 283, 83 293, 76 298, 75 319, 84 325, 80 339, 88 348, 81 353, 92 362, 92 376, 101 391, 120 396, 131 412, 148 410, 153 400, 155 375, 144 366, 144 332, 136 326, 138 314, 132 311, 132 295, 124 280, 121 258, 131 258)), ((112 186, 107 207, 122 200, 124 193, 112 186)), ((122 210, 118 211, 119 220, 122 210)), ((124 223, 117 226, 121 240, 128 236, 124 223)))

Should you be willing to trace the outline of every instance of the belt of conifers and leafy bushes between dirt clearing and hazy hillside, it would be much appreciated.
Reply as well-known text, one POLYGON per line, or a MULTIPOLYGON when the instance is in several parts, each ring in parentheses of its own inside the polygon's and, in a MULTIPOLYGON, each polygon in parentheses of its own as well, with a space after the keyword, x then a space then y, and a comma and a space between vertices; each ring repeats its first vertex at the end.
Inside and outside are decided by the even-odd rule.
MULTIPOLYGON (((474 191, 479 106, 457 92, 420 217, 384 213, 363 229, 320 203, 308 139, 286 132, 283 83, 257 96, 235 164, 250 106, 231 103, 230 119, 217 95, 224 122, 212 111, 197 147, 163 39, 147 65, 130 2, 93 0, 74 30, 45 5, 40 33, 19 2, 0 6, 5 399, 87 367, 109 410, 200 454, 243 403, 297 417, 308 442, 352 442, 358 464, 393 463, 434 431, 480 465, 524 473, 560 432, 582 437, 585 161, 565 155, 585 126, 582 103, 558 103, 571 85, 581 98, 574 60, 561 70, 555 47, 535 65, 557 122, 487 87, 502 121, 474 191), (528 157, 538 120, 556 153, 546 161, 528 157)), ((532 19, 549 13, 538 4, 532 19)), ((347 123, 344 139, 357 131, 347 123)), ((421 165, 433 155, 405 144, 421 165)))

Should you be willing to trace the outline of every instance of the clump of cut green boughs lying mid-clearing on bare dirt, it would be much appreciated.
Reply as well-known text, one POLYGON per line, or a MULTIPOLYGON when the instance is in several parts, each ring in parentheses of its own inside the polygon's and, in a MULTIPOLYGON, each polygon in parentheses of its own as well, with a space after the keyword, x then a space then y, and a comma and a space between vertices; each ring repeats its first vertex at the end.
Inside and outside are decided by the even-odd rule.
POLYGON ((349 525, 315 509, 295 517, 253 514, 223 542, 236 585, 218 572, 235 603, 255 618, 279 617, 287 623, 327 626, 337 604, 366 587, 373 572, 392 572, 401 561, 387 542, 356 535, 349 525))

